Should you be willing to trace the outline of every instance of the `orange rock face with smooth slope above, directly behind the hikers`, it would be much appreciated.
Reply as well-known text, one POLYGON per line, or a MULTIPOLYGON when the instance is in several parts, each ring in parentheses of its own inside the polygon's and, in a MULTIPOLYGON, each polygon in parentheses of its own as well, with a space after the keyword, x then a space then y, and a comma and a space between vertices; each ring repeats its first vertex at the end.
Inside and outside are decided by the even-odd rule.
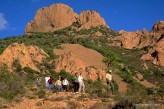
POLYGON ((54 49, 54 53, 60 55, 55 60, 55 71, 65 69, 71 74, 82 73, 85 79, 105 80, 105 64, 103 56, 98 52, 85 48, 78 44, 63 44, 63 50, 54 49))

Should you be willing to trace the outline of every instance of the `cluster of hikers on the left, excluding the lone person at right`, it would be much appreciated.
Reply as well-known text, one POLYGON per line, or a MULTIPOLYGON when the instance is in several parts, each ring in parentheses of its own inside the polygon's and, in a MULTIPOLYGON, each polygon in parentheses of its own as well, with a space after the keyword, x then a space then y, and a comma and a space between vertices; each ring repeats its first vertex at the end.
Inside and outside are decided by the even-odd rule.
MULTIPOLYGON (((40 77, 36 79, 36 84, 38 87, 41 86, 40 77)), ((70 84, 73 84, 73 89, 75 93, 79 93, 79 92, 85 93, 85 84, 84 84, 84 79, 81 73, 80 74, 75 73, 75 76, 73 80, 71 81, 71 83, 70 81, 67 80, 67 77, 63 78, 59 76, 56 82, 54 82, 52 76, 46 75, 45 77, 45 87, 49 90, 56 88, 58 92, 62 92, 62 91, 68 92, 68 87, 70 84)))

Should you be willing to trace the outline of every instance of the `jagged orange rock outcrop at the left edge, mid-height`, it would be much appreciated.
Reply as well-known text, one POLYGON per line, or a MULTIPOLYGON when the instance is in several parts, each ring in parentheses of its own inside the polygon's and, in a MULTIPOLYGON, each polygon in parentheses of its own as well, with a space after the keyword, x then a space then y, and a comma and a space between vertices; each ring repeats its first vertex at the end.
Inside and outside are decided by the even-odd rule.
POLYGON ((0 63, 6 64, 9 69, 12 69, 13 62, 19 60, 22 68, 30 67, 33 70, 38 71, 33 60, 40 63, 48 55, 36 46, 25 46, 23 43, 12 43, 9 45, 0 55, 0 63))

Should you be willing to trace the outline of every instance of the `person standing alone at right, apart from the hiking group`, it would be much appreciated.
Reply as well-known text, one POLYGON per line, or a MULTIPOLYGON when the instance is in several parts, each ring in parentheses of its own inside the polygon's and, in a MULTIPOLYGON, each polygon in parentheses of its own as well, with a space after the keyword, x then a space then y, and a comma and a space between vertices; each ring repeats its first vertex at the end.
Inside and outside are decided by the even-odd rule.
POLYGON ((114 93, 114 85, 112 83, 112 70, 109 70, 106 74, 106 82, 107 82, 107 93, 110 92, 110 89, 112 88, 112 94, 114 93))

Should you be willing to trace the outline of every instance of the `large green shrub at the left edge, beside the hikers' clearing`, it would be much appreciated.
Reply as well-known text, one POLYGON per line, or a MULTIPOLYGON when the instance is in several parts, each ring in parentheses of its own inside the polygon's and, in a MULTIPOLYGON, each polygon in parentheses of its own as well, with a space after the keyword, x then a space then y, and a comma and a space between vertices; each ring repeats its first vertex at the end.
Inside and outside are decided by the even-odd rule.
POLYGON ((0 97, 12 100, 18 94, 24 94, 23 81, 19 76, 9 72, 6 67, 1 67, 0 77, 0 97))

